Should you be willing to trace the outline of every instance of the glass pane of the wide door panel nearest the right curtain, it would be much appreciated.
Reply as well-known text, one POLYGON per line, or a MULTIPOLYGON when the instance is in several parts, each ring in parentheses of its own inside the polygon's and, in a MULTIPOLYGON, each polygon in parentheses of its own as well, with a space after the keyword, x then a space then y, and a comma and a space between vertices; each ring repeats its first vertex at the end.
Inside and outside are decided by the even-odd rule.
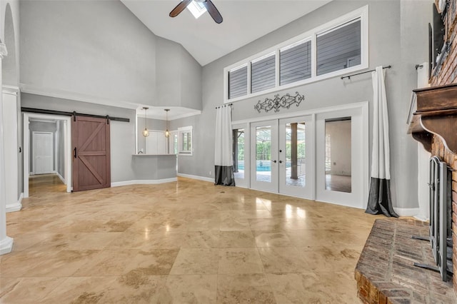
POLYGON ((326 190, 352 191, 351 118, 326 120, 326 190))

